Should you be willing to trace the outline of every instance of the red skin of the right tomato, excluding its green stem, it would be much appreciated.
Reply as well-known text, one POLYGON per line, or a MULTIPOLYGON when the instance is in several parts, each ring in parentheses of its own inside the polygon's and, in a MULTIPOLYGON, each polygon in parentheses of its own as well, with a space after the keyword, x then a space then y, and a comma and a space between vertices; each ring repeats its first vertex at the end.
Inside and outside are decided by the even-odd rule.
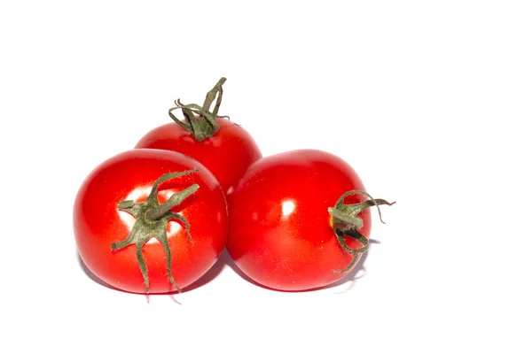
MULTIPOLYGON (((293 150, 250 165, 228 193, 230 235, 227 250, 253 281, 279 290, 316 289, 338 281, 335 273, 352 256, 341 249, 328 207, 348 190, 364 190, 347 162, 320 150, 293 150)), ((365 196, 346 198, 346 204, 365 196)), ((370 236, 371 214, 359 215, 370 236)), ((346 237, 351 248, 363 245, 346 237)), ((355 265, 353 265, 355 266, 355 265)))

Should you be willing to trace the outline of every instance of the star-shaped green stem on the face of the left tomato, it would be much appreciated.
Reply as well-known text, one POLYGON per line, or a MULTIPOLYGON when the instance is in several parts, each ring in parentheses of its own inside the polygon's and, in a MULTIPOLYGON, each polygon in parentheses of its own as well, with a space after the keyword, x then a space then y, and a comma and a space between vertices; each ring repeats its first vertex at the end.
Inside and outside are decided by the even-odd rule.
POLYGON ((185 219, 181 214, 170 212, 170 210, 176 205, 183 203, 184 199, 192 196, 192 194, 194 194, 200 188, 200 186, 198 184, 193 184, 187 189, 170 196, 163 204, 159 204, 157 191, 159 189, 160 183, 195 172, 199 172, 199 170, 194 169, 184 172, 163 174, 159 179, 157 179, 157 181, 153 183, 150 195, 145 202, 135 203, 132 200, 126 200, 121 201, 117 206, 118 210, 129 212, 136 219, 133 227, 131 227, 129 235, 120 242, 111 243, 111 249, 121 250, 132 244, 136 246, 137 262, 145 281, 146 293, 150 292, 150 282, 145 264, 145 258, 142 254, 142 248, 145 245, 145 242, 152 237, 160 242, 165 251, 167 259, 168 281, 170 281, 170 283, 178 292, 181 292, 181 289, 177 286, 176 281, 174 280, 174 275, 172 274, 172 254, 168 244, 167 224, 171 219, 178 219, 183 222, 187 238, 190 242, 192 242, 190 226, 187 219, 185 219))

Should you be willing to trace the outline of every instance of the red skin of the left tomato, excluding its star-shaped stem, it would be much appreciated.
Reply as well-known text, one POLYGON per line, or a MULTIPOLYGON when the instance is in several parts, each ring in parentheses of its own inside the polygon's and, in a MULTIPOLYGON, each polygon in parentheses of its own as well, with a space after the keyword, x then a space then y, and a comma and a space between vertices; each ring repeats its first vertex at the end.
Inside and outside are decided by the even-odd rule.
MULTIPOLYGON (((193 243, 184 227, 168 222, 168 243, 172 273, 182 289, 215 264, 227 239, 227 204, 215 177, 198 161, 174 151, 129 150, 98 165, 82 182, 74 201, 74 235, 83 263, 92 273, 114 288, 145 293, 138 266, 136 246, 112 250, 111 243, 124 240, 135 221, 118 211, 121 200, 145 201, 153 182, 164 173, 198 168, 191 173, 160 184, 158 198, 164 203, 173 193, 194 183, 198 191, 177 205, 190 224, 193 243)), ((142 248, 149 277, 150 293, 176 291, 168 281, 166 256, 160 242, 152 238, 142 248)))

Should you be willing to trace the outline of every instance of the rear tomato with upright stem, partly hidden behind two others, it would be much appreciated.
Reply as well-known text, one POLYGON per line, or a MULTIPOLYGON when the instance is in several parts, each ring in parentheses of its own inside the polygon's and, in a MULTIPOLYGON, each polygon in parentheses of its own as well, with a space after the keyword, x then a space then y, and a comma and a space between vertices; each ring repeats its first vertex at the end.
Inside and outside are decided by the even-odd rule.
POLYGON ((262 153, 244 128, 217 116, 224 81, 222 78, 207 93, 203 107, 176 101, 177 106, 168 112, 174 123, 155 127, 137 142, 135 148, 174 150, 195 158, 215 175, 223 191, 227 191, 249 165, 262 158, 262 153), (216 93, 218 100, 214 111, 210 112, 216 93), (172 111, 176 109, 183 110, 184 120, 173 115, 172 111))

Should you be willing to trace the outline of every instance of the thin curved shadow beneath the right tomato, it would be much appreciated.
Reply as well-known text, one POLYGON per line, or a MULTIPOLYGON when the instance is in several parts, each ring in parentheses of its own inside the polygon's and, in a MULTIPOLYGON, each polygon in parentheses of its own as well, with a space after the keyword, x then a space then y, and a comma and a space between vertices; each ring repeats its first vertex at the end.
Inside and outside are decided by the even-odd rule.
MULTIPOLYGON (((364 277, 364 274, 365 274, 365 272, 364 272, 365 271, 364 263, 365 263, 366 258, 368 257, 368 254, 370 253, 370 250, 372 250, 372 243, 380 243, 380 242, 377 241, 377 240, 370 239, 370 246, 369 246, 368 250, 365 251, 364 254, 360 257, 360 260, 356 263, 356 266, 353 269, 351 269, 351 271, 349 271, 349 273, 347 273, 340 280, 334 281, 333 283, 331 283, 329 285, 325 285, 324 287, 306 289, 306 290, 281 290, 281 289, 268 288, 268 287, 266 287, 266 286, 264 286, 264 285, 262 285, 262 284, 260 284, 260 283, 258 283, 256 281, 254 281, 253 279, 248 277, 246 275, 246 273, 242 272, 240 270, 239 266, 237 266, 237 264, 234 262, 234 260, 231 258, 231 256, 229 256, 228 253, 227 253, 226 262, 227 262, 227 266, 230 266, 231 269, 235 273, 239 274, 239 276, 242 279, 244 279, 245 281, 248 281, 248 282, 250 282, 250 283, 252 283, 252 284, 254 284, 257 287, 260 287, 262 289, 278 291, 278 292, 282 292, 282 293, 301 293, 301 292, 317 291, 317 290, 323 290, 323 289, 331 289, 331 288, 339 287, 340 285, 345 284, 347 282, 351 282, 351 285, 348 287, 348 289, 345 289, 345 290, 342 290, 342 291, 340 291, 338 293, 335 293, 335 294, 340 294, 340 293, 347 292, 350 289, 353 289, 353 287, 355 286, 356 281, 358 279, 364 277), (359 273, 363 273, 363 274, 359 275, 359 273)), ((224 250, 224 252, 226 252, 226 250, 224 250)))

